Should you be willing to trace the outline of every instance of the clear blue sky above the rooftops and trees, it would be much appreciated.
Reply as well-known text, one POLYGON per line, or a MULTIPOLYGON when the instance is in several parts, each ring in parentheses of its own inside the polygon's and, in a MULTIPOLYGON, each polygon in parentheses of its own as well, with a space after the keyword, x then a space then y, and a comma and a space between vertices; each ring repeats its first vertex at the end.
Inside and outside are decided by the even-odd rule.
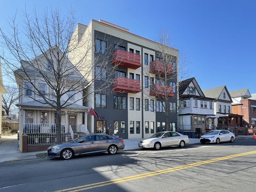
POLYGON ((167 27, 202 90, 226 85, 256 93, 256 1, 2 1, 0 27, 10 30, 7 19, 16 10, 20 19, 25 4, 38 14, 50 6, 66 14, 72 6, 78 22, 103 19, 151 40, 167 27))

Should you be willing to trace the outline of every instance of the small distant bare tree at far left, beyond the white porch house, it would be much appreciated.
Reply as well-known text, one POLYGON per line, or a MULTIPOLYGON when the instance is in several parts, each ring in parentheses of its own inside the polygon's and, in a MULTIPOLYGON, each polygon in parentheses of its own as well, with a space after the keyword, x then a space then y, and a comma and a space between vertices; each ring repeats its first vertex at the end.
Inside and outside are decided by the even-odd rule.
POLYGON ((19 100, 19 90, 14 84, 5 85, 8 93, 2 95, 2 109, 6 115, 9 113, 17 113, 17 107, 14 105, 19 100))

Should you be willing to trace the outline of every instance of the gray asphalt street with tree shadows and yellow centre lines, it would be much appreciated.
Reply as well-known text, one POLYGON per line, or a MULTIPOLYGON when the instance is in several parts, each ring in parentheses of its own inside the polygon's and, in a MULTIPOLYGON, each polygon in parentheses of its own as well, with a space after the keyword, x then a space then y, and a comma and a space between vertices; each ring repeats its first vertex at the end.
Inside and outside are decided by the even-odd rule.
POLYGON ((256 140, 0 163, 0 191, 256 191, 256 140))

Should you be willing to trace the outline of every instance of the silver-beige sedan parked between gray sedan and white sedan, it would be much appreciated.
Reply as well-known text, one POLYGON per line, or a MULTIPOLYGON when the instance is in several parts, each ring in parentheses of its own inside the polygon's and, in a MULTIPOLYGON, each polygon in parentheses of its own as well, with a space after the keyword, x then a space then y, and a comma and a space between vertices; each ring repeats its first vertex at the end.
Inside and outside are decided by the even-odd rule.
POLYGON ((154 148, 159 150, 161 147, 180 146, 184 147, 189 143, 189 137, 174 131, 164 131, 155 133, 148 139, 142 139, 138 147, 154 148))

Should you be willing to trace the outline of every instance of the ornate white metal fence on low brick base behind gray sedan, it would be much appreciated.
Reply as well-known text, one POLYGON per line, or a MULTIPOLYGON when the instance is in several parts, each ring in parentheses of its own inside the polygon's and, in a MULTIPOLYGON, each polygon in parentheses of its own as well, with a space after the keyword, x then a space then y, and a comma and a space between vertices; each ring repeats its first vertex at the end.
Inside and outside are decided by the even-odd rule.
MULTIPOLYGON (((39 134, 27 134, 28 145, 49 145, 55 144, 57 141, 56 133, 39 133, 39 134)), ((61 142, 68 143, 73 139, 70 133, 61 134, 61 142)))

